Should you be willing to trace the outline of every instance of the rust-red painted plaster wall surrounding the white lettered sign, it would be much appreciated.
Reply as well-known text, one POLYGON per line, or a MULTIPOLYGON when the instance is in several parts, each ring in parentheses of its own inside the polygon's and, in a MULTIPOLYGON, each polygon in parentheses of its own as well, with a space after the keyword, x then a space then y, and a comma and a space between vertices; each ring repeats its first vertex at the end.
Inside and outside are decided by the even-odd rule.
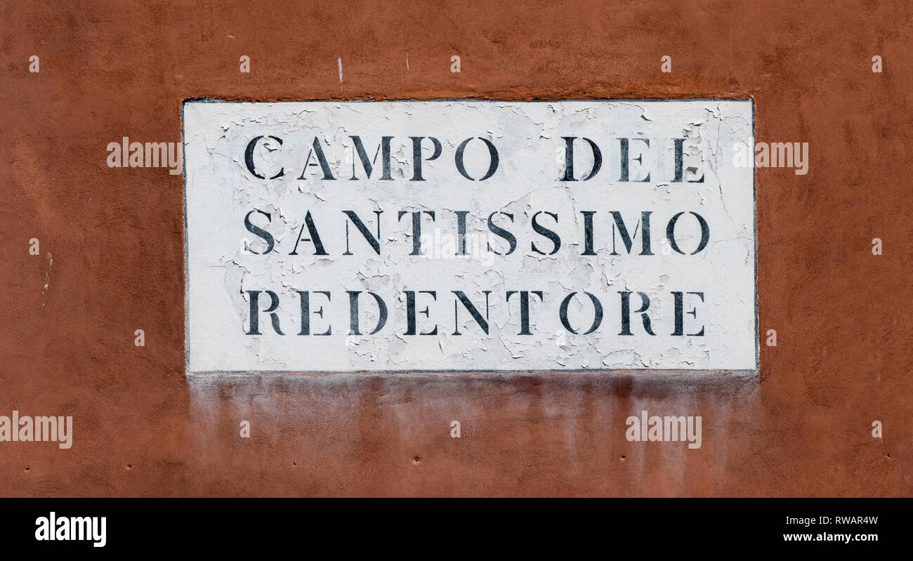
POLYGON ((72 415, 74 435, 68 450, 0 442, 0 494, 910 494, 911 10, 5 3, 0 415, 72 415), (747 96, 756 140, 811 154, 806 175, 758 170, 760 327, 778 343, 761 344, 760 381, 186 379, 183 178, 106 163, 124 136, 180 141, 181 102, 196 97, 747 96), (627 442, 624 420, 641 410, 701 415, 701 448, 627 442))

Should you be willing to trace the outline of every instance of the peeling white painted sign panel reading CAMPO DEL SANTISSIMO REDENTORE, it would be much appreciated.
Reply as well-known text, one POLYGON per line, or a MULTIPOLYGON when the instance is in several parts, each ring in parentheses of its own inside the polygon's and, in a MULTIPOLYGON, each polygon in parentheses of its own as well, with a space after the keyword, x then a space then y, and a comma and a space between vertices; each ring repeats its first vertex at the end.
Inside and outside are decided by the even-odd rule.
POLYGON ((187 101, 188 372, 756 370, 753 146, 749 100, 187 101))

